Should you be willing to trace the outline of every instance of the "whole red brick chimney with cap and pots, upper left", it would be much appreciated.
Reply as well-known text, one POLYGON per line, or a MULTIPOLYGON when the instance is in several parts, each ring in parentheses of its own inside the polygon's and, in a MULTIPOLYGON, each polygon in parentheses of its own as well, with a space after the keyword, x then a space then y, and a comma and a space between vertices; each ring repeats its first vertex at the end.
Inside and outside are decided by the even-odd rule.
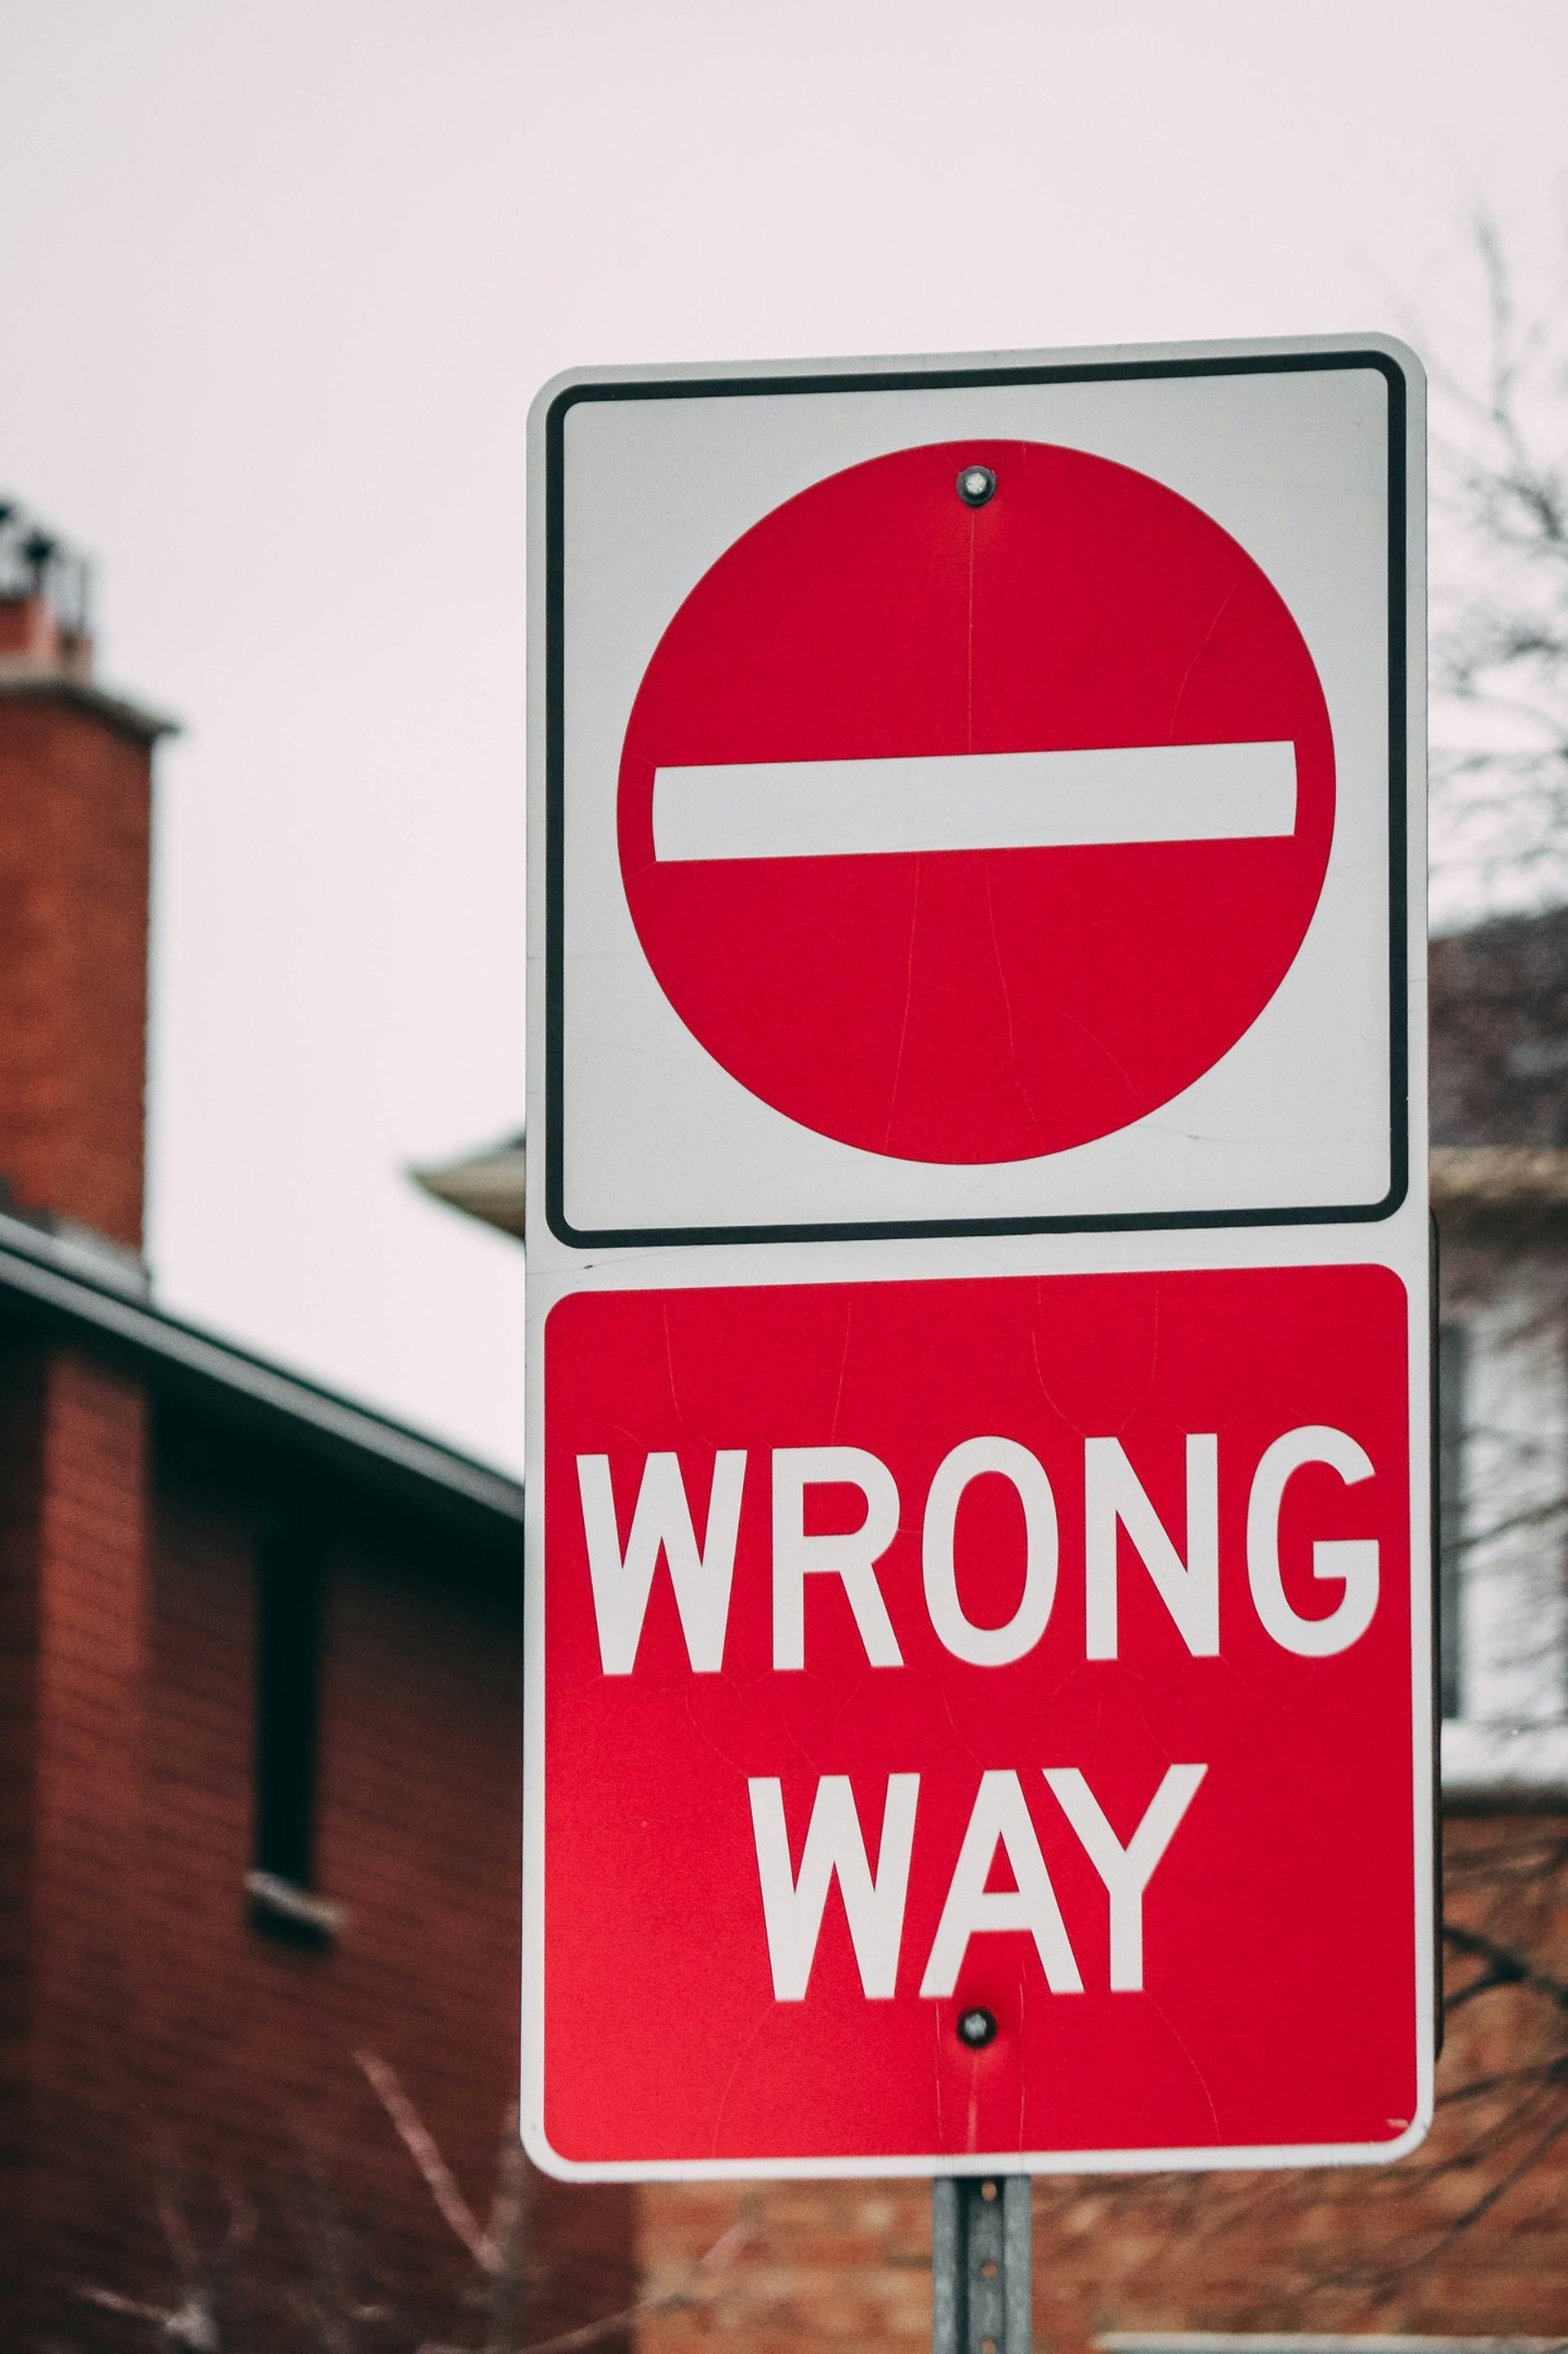
POLYGON ((87 567, 0 504, 0 1210, 141 1250, 153 744, 87 567))

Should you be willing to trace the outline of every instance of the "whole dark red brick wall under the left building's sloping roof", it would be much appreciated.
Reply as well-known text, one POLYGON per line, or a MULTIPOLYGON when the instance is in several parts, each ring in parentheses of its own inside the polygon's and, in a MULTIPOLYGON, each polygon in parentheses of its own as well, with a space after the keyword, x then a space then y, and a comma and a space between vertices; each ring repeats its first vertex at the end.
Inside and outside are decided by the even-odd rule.
MULTIPOLYGON (((247 1921, 252 1528, 297 1464, 148 1474, 148 1401, 0 1346, 0 2345, 132 2349, 212 2293, 238 2345, 483 2342, 480 2283, 372 2086, 396 2069, 473 2215, 513 2152, 518 1577, 315 1474, 327 1951, 247 1921)), ((626 2307, 631 2194, 537 2177, 518 2342, 626 2307)), ((610 2340, 614 2349, 614 2340, 610 2340)))

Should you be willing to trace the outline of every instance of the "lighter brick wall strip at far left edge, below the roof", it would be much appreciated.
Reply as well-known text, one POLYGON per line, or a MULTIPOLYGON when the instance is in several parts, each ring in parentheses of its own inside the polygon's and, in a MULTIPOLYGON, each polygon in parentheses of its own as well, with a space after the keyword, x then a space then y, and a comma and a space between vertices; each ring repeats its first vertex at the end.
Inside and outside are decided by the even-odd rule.
MULTIPOLYGON (((12 2126, 19 2253, 40 2293, 66 2246, 125 2276, 141 2236, 122 2187, 139 2114, 146 1415, 132 1379, 71 1349, 21 1346, 9 1370, 5 1558, 28 1735, 7 1888, 24 1923, 12 2126)), ((28 2319, 33 2293, 16 2300, 28 2319)))

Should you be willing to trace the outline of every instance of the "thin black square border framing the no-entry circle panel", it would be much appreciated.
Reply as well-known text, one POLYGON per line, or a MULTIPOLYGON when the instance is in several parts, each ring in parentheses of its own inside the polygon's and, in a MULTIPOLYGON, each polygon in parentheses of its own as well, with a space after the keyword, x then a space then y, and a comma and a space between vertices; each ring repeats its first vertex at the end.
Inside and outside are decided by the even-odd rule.
POLYGON ((1408 664, 1406 374, 1387 351, 1288 351, 1191 360, 1085 360, 1062 367, 930 367, 810 377, 669 377, 570 384, 544 419, 544 1215, 574 1250, 680 1243, 869 1243, 970 1233, 1149 1233, 1191 1226, 1326 1226, 1391 1217, 1410 1184, 1408 1012, 1408 664), (565 421, 579 400, 716 400, 746 393, 895 393, 989 384, 1111 384, 1158 377, 1269 377, 1375 367, 1389 386, 1389 1191, 1377 1203, 1269 1210, 1149 1210, 1081 1217, 838 1219, 775 1226, 572 1226, 565 1215, 565 421))

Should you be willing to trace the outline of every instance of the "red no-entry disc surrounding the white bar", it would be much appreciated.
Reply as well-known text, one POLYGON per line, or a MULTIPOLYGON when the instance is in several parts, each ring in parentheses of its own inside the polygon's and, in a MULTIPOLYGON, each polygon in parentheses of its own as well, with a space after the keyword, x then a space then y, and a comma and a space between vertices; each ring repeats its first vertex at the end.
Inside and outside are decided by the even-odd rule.
POLYGON ((1318 673, 1229 532, 1083 450, 937 443, 815 483, 697 581, 626 725, 619 855, 659 986, 751 1095, 862 1151, 994 1163, 1125 1128, 1236 1045, 1333 810, 1318 673), (982 506, 965 466, 996 473, 982 506), (1295 831, 655 852, 659 770, 1172 744, 1295 746, 1295 831))

